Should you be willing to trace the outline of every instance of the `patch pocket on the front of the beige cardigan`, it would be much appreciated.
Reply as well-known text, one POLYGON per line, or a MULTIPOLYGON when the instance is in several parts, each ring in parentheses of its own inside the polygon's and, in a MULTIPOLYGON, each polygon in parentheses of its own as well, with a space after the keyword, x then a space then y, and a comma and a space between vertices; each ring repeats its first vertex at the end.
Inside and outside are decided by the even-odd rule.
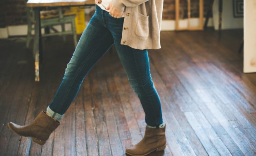
POLYGON ((140 37, 149 36, 149 16, 141 13, 138 14, 135 34, 140 37))

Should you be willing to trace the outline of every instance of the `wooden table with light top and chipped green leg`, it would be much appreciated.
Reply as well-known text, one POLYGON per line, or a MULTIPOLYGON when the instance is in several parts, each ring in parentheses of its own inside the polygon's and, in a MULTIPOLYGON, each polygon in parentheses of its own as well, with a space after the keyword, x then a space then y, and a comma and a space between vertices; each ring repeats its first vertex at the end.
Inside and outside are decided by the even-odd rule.
POLYGON ((39 81, 39 63, 43 63, 42 35, 40 25, 40 10, 44 7, 93 6, 95 0, 28 0, 26 6, 35 11, 35 35, 33 53, 35 54, 35 81, 39 81))

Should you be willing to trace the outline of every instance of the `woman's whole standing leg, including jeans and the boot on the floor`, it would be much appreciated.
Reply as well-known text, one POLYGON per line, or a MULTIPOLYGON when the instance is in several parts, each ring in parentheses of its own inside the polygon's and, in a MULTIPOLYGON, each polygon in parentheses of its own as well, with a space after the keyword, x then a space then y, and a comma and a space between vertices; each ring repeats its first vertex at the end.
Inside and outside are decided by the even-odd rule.
POLYGON ((162 118, 161 101, 152 81, 147 49, 140 50, 121 45, 122 32, 126 31, 123 30, 124 18, 114 18, 107 14, 106 19, 109 31, 113 35, 117 54, 126 70, 133 91, 140 99, 147 123, 142 140, 127 148, 126 153, 133 156, 145 156, 152 151, 164 150, 166 125, 162 118))

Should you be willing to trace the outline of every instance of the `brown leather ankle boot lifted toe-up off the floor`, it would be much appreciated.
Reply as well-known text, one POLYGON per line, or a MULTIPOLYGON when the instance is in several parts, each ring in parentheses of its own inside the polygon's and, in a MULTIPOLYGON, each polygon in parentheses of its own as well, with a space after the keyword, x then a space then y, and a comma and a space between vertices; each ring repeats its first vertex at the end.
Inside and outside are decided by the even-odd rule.
POLYGON ((30 137, 39 145, 44 145, 50 134, 59 126, 60 122, 46 115, 45 111, 39 115, 30 124, 20 126, 12 122, 8 122, 9 128, 16 134, 30 137))

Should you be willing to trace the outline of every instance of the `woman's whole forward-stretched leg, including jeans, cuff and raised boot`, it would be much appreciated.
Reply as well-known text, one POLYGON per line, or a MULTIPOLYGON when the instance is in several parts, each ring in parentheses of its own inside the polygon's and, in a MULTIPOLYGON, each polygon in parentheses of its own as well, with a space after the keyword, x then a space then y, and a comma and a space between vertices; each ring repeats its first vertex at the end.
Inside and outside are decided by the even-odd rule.
POLYGON ((40 112, 32 122, 24 126, 8 122, 8 127, 18 135, 30 137, 34 142, 44 145, 50 134, 59 126, 59 119, 76 97, 87 73, 113 43, 111 33, 103 24, 102 11, 96 7, 95 14, 67 64, 62 83, 47 107, 47 112, 40 112))

